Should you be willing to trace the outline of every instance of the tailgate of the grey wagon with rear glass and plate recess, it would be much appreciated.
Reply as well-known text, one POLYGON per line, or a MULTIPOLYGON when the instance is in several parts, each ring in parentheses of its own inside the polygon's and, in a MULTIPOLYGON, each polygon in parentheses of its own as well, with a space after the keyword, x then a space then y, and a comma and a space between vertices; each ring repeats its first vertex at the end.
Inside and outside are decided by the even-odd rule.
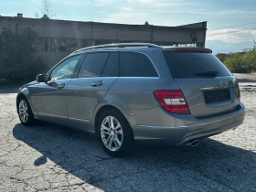
POLYGON ((183 50, 164 55, 194 117, 229 112, 239 104, 236 79, 213 54, 183 50))

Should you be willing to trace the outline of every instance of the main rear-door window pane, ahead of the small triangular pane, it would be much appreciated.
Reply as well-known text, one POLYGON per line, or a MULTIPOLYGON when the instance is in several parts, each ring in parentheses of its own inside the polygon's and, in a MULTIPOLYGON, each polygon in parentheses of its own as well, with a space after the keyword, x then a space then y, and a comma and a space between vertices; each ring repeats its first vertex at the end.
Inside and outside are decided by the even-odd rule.
POLYGON ((102 69, 109 55, 109 53, 87 54, 80 67, 78 78, 101 77, 102 69))

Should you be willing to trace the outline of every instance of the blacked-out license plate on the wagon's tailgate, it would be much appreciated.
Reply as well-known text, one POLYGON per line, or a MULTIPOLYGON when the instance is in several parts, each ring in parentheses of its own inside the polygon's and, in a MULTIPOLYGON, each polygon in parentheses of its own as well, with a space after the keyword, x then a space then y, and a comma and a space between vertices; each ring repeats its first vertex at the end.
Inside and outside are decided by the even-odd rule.
POLYGON ((205 91, 206 103, 229 101, 230 91, 229 89, 205 91))

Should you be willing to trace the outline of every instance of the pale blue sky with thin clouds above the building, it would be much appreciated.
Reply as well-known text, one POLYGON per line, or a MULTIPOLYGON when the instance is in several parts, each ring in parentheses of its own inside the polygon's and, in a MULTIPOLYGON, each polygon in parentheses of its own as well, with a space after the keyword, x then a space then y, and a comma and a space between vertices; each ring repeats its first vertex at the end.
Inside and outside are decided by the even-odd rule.
MULTIPOLYGON (((256 0, 49 0, 54 19, 180 26, 208 21, 206 47, 215 53, 253 47, 256 0), (250 25, 245 25, 249 24, 250 25), (243 25, 243 26, 240 26, 243 25), (233 27, 240 26, 240 27, 233 27), (217 29, 217 30, 216 30, 217 29)), ((41 14, 41 0, 0 0, 1 16, 41 14)))

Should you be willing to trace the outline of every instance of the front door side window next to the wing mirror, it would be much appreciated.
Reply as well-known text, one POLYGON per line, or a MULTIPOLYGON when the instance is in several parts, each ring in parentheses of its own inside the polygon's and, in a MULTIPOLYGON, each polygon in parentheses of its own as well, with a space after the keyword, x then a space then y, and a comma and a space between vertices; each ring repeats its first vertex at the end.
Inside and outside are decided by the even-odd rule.
POLYGON ((49 80, 66 80, 73 77, 81 55, 64 60, 51 71, 49 80))

